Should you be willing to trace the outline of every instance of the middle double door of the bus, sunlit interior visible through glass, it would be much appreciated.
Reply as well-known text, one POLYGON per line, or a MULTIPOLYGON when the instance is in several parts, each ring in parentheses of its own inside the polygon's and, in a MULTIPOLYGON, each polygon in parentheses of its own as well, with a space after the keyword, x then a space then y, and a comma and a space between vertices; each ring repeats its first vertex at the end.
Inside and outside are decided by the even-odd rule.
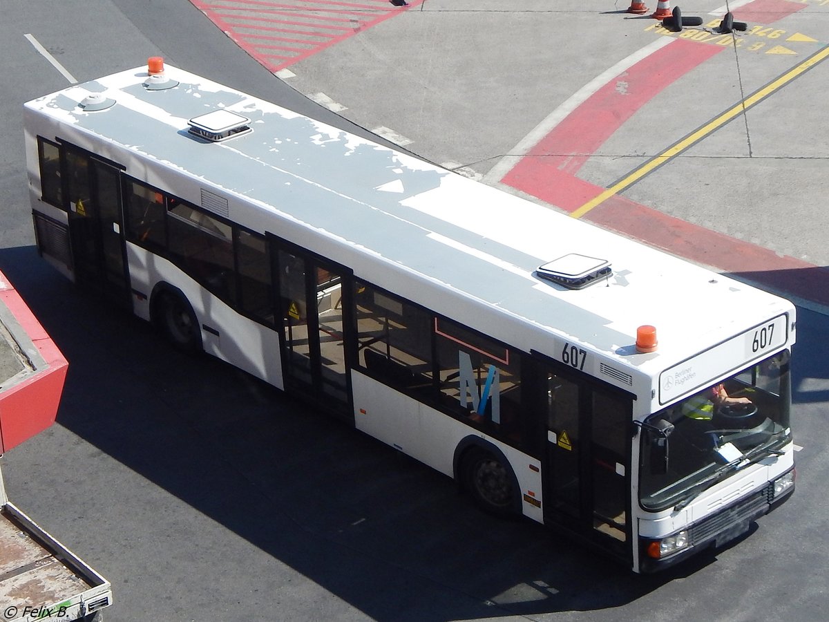
POLYGON ((353 417, 344 320, 351 273, 342 266, 277 244, 285 387, 353 417))

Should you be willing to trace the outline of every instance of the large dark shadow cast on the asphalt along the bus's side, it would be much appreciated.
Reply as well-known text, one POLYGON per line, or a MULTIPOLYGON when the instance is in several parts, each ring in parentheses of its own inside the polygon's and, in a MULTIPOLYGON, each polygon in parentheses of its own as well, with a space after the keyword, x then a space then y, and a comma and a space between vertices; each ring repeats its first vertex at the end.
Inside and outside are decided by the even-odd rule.
MULTIPOLYGON (((715 561, 704 552, 635 576, 536 523, 490 518, 432 469, 214 358, 173 350, 147 323, 75 289, 34 248, 0 250, 0 270, 70 362, 58 423, 186 503, 191 516, 176 520, 204 515, 264 554, 252 561, 250 547, 230 543, 221 560, 204 561, 216 576, 182 567, 177 578, 217 601, 256 586, 250 619, 291 581, 283 564, 373 620, 442 621, 615 608, 715 561), (222 566, 243 572, 229 579, 222 566), (253 567, 274 574, 245 575, 253 567)), ((108 477, 90 474, 90 485, 123 488, 133 503, 146 494, 108 477)), ((108 511, 120 517, 116 541, 146 528, 143 514, 108 511)), ((199 533, 180 538, 171 555, 188 565, 211 555, 199 533)), ((159 593, 158 577, 132 576, 130 555, 100 564, 124 606, 159 593)))

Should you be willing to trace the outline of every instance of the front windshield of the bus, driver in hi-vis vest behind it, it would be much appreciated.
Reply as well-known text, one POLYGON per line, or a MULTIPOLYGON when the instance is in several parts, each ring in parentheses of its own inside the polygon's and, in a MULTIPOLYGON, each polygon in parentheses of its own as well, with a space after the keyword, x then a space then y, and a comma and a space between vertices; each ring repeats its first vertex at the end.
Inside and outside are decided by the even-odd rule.
POLYGON ((765 359, 651 415, 642 425, 642 507, 684 507, 792 439, 789 353, 765 359))

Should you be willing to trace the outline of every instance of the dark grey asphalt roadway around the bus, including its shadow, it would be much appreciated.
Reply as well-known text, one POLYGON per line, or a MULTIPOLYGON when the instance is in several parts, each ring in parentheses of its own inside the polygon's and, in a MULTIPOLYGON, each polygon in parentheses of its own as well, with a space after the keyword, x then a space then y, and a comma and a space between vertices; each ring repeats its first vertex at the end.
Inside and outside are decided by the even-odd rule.
MULTIPOLYGON (((185 0, 2 8, 0 270, 70 362, 58 424, 12 449, 3 472, 12 500, 112 581, 109 622, 825 618, 826 316, 802 309, 798 321, 793 430, 803 449, 792 500, 734 546, 632 576, 536 524, 483 516, 444 476, 244 373, 174 352, 41 262, 21 105, 66 80, 25 34, 78 80, 160 55, 307 114, 326 111, 185 0)), ((366 57, 366 75, 376 58, 366 57)), ((360 114, 376 105, 366 97, 360 114)), ((376 122, 390 125, 380 113, 376 122)), ((447 112, 434 131, 451 124, 447 112)))

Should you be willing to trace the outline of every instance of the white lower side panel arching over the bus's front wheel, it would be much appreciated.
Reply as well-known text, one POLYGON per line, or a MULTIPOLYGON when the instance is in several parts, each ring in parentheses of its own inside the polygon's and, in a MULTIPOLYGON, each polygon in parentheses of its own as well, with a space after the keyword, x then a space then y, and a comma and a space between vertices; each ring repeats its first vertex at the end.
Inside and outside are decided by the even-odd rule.
POLYGON ((356 428, 453 477, 453 458, 469 435, 497 446, 518 479, 523 513, 543 522, 541 463, 359 372, 351 373, 356 428), (527 498, 533 501, 527 501, 527 498), (535 502, 535 503, 534 503, 535 502))

